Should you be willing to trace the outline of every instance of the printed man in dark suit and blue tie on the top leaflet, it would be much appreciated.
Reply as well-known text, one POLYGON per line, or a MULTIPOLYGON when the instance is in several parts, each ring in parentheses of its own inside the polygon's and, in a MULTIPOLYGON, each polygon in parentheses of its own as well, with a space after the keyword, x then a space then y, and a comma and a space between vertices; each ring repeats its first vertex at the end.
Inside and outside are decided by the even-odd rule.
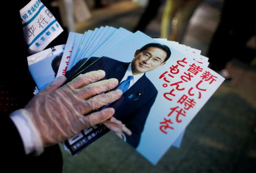
MULTIPOLYGON (((136 148, 150 108, 158 94, 145 73, 166 64, 170 56, 171 50, 166 45, 149 43, 135 51, 131 62, 121 62, 110 57, 84 58, 67 72, 66 77, 72 78, 71 75, 80 65, 77 71, 81 74, 104 70, 106 73, 104 79, 118 79, 119 86, 115 89, 122 90, 123 95, 117 101, 105 106, 113 107, 115 113, 114 117, 104 122, 104 125, 136 148), (85 61, 86 63, 81 65, 85 61)), ((98 137, 102 135, 98 134, 98 137)))

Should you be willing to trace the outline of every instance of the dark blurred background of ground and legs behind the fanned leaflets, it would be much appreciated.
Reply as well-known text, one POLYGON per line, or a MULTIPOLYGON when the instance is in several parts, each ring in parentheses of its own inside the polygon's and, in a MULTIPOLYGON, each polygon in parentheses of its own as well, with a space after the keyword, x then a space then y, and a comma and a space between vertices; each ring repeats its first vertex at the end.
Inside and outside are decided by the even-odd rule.
MULTIPOLYGON (((67 20, 63 23, 68 31, 84 33, 113 26, 141 30, 151 37, 167 37, 202 50, 201 54, 210 57, 214 70, 220 74, 225 70, 228 75, 223 74, 227 80, 188 125, 181 146, 171 147, 156 166, 110 132, 76 157, 61 146, 63 172, 256 172, 253 1, 81 1, 91 17, 83 20, 68 15, 67 20, 67 15, 61 16, 67 20), (149 15, 143 18, 143 14, 149 15)), ((51 4, 60 6, 61 1, 51 4)))

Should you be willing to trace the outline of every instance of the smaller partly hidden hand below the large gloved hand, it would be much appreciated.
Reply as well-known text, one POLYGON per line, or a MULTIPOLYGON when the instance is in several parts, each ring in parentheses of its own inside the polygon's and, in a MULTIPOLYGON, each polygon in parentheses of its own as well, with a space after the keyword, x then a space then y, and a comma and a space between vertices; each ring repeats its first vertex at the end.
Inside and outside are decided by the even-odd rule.
POLYGON ((131 135, 131 130, 129 130, 125 124, 121 121, 115 119, 115 117, 111 117, 109 120, 103 122, 103 124, 112 130, 118 137, 123 139, 122 133, 126 133, 127 135, 131 135))

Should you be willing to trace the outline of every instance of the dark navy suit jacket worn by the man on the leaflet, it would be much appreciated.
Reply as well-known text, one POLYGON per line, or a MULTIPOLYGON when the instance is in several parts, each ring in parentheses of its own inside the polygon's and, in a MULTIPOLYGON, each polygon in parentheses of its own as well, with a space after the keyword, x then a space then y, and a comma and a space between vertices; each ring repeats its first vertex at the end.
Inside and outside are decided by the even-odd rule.
MULTIPOLYGON (((120 82, 128 66, 129 63, 117 61, 109 57, 91 57, 88 62, 81 67, 81 69, 85 69, 81 73, 84 74, 93 70, 104 70, 106 72, 104 79, 117 78, 120 82), (92 64, 94 61, 96 62, 93 65, 85 69, 86 66, 92 64)), ((76 68, 76 65, 73 68, 76 68)), ((71 73, 72 69, 68 71, 66 77, 69 78, 69 74, 71 73)), ((133 133, 131 136, 126 136, 126 141, 133 147, 137 147, 139 144, 144 124, 157 94, 158 91, 155 86, 144 74, 129 90, 123 93, 119 100, 109 105, 109 107, 115 109, 114 117, 122 121, 133 133)))

